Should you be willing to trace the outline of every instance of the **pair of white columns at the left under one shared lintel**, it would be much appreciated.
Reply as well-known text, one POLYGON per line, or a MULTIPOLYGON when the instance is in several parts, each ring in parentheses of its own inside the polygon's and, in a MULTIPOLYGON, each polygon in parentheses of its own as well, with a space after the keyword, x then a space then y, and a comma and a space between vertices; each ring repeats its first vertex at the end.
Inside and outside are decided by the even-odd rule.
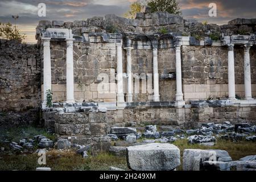
MULTIPOLYGON (((42 38, 43 41, 43 59, 44 59, 44 100, 43 107, 46 107, 47 103, 47 90, 52 90, 52 76, 51 76, 51 49, 50 49, 51 38, 42 38)), ((74 71, 73 71, 73 40, 66 39, 67 42, 67 103, 75 102, 74 97, 74 71)))

